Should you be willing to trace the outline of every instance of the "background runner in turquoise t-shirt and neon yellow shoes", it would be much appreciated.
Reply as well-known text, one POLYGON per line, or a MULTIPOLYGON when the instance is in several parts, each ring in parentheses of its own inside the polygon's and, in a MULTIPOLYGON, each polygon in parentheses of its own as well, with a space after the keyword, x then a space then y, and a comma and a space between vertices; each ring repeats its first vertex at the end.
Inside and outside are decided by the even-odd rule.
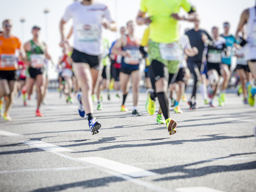
POLYGON ((230 24, 228 22, 225 22, 223 23, 223 27, 224 27, 224 34, 220 36, 226 39, 227 55, 222 56, 221 70, 222 70, 222 76, 224 80, 223 80, 223 83, 221 84, 220 95, 218 98, 220 106, 222 106, 223 103, 226 102, 226 90, 227 90, 228 82, 231 76, 230 66, 231 66, 231 58, 233 56, 233 46, 234 46, 234 43, 236 43, 235 37, 229 34, 230 24))

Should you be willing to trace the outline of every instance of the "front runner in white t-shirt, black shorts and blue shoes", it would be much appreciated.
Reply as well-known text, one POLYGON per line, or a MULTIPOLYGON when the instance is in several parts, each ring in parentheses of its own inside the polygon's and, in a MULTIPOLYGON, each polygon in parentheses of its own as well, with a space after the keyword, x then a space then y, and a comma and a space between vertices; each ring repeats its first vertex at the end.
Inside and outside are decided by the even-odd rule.
POLYGON ((81 83, 83 93, 77 93, 79 99, 79 109, 81 115, 87 114, 89 127, 92 134, 98 133, 100 123, 93 117, 92 90, 98 87, 99 71, 101 70, 100 55, 102 52, 101 27, 116 31, 116 24, 110 17, 108 7, 104 4, 94 3, 93 0, 83 0, 71 4, 60 22, 61 44, 67 41, 64 36, 64 25, 73 18, 74 30, 74 50, 71 58, 73 59, 73 69, 75 76, 81 83), (106 18, 109 23, 103 23, 106 18), (82 96, 83 95, 83 96, 82 96), (83 105, 82 105, 83 102, 83 105))

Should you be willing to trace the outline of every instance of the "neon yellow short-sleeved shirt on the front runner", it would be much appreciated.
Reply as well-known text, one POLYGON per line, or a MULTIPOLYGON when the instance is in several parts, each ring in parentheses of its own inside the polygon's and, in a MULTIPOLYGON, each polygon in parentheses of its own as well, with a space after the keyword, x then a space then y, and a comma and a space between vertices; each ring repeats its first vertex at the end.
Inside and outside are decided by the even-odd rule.
POLYGON ((179 13, 180 7, 186 12, 192 9, 188 0, 141 0, 140 11, 147 12, 152 22, 149 25, 149 39, 155 43, 179 41, 178 20, 171 17, 179 13))

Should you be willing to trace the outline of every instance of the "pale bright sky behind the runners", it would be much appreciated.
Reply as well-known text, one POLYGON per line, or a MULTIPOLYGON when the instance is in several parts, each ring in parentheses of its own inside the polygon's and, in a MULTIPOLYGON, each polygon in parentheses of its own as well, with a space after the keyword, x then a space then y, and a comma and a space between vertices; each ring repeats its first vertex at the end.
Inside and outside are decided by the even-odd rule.
MULTIPOLYGON (((2 23, 4 19, 11 19, 13 35, 19 37, 24 43, 32 39, 31 28, 34 25, 40 26, 40 38, 47 43, 53 62, 57 64, 61 56, 59 23, 66 7, 73 2, 73 0, 5 0, 1 2, 0 6, 0 21, 2 23), (47 15, 44 14, 45 8, 50 8, 47 15), (26 21, 23 23, 22 30, 20 19, 23 17, 26 18, 26 21)), ((140 0, 97 0, 97 2, 108 5, 118 28, 124 26, 128 20, 135 20, 140 9, 140 0)), ((189 2, 196 7, 200 14, 201 28, 208 31, 209 34, 212 26, 218 26, 222 33, 222 24, 225 21, 230 22, 230 33, 235 34, 242 11, 255 5, 255 0, 189 0, 189 2)), ((182 13, 185 14, 183 11, 182 13)), ((193 23, 187 21, 180 23, 181 31, 184 31, 185 28, 193 28, 193 23)), ((67 23, 66 34, 71 26, 72 20, 67 23)), ((142 38, 145 28, 146 26, 137 26, 136 36, 142 38)), ((113 42, 119 37, 119 34, 103 30, 103 37, 107 37, 110 42, 113 42)), ((72 40, 71 38, 70 44, 72 44, 72 40)), ((49 76, 51 79, 57 78, 57 73, 53 68, 50 69, 49 76)))

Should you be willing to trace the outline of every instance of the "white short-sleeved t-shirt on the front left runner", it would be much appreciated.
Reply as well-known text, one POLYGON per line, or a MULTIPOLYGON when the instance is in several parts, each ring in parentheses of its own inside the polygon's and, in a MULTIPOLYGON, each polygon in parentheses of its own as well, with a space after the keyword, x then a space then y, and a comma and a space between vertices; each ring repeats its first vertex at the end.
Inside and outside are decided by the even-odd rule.
POLYGON ((113 22, 108 7, 101 3, 84 5, 77 2, 68 6, 64 21, 73 18, 74 49, 89 55, 99 56, 103 51, 102 20, 113 22))

